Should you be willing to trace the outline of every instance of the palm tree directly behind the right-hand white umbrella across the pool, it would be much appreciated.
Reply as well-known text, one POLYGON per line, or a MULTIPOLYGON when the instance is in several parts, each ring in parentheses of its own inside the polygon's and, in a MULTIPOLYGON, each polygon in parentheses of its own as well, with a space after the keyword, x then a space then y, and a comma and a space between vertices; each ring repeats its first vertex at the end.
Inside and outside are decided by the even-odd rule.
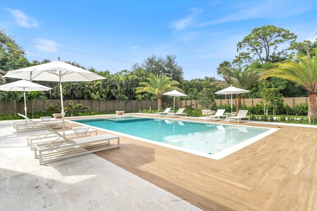
MULTIPOLYGON (((250 89, 262 76, 261 70, 257 68, 246 68, 244 71, 241 67, 231 68, 228 66, 225 68, 223 66, 222 68, 218 73, 220 73, 227 85, 230 84, 242 89, 250 89)), ((242 94, 237 94, 237 112, 241 109, 241 99, 242 94)))

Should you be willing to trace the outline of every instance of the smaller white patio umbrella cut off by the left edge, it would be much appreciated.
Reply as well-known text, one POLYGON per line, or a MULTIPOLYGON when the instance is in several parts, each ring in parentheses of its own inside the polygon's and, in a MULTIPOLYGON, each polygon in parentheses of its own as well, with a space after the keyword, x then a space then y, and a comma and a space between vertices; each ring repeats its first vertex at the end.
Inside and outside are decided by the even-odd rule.
POLYGON ((25 116, 26 116, 25 92, 26 91, 47 91, 50 89, 52 88, 41 85, 41 84, 32 83, 27 80, 20 80, 20 81, 12 82, 9 84, 0 85, 1 91, 23 91, 25 116))

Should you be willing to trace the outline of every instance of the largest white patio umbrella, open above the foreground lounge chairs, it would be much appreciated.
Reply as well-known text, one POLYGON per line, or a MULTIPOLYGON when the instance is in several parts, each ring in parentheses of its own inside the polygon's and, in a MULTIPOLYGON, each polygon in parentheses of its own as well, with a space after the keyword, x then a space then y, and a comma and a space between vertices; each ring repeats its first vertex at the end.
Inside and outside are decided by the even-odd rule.
POLYGON ((4 76, 6 78, 25 79, 30 81, 49 81, 59 82, 60 89, 60 103, 61 116, 63 120, 63 133, 65 133, 64 126, 64 106, 62 82, 91 82, 95 80, 106 79, 96 73, 73 66, 66 62, 53 61, 45 64, 35 65, 31 67, 21 68, 18 70, 11 70, 4 76))

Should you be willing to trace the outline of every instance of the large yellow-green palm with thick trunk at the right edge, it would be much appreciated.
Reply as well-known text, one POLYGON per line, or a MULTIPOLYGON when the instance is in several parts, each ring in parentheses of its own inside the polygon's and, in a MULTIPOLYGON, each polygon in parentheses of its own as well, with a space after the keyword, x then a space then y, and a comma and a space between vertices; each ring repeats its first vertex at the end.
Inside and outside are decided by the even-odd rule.
POLYGON ((286 61, 277 67, 266 70, 262 78, 279 77, 304 86, 309 91, 308 116, 317 120, 317 48, 315 56, 298 54, 297 62, 286 61))

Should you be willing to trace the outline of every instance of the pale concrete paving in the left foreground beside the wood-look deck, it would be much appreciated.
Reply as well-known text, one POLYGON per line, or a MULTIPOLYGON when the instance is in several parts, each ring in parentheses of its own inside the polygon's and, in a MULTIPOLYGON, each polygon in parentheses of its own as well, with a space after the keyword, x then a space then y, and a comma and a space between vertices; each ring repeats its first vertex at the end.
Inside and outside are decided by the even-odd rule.
MULTIPOLYGON (((200 211, 106 160, 88 154, 39 165, 13 121, 0 121, 2 211, 200 211)), ((43 130, 42 130, 43 132, 43 130)))

